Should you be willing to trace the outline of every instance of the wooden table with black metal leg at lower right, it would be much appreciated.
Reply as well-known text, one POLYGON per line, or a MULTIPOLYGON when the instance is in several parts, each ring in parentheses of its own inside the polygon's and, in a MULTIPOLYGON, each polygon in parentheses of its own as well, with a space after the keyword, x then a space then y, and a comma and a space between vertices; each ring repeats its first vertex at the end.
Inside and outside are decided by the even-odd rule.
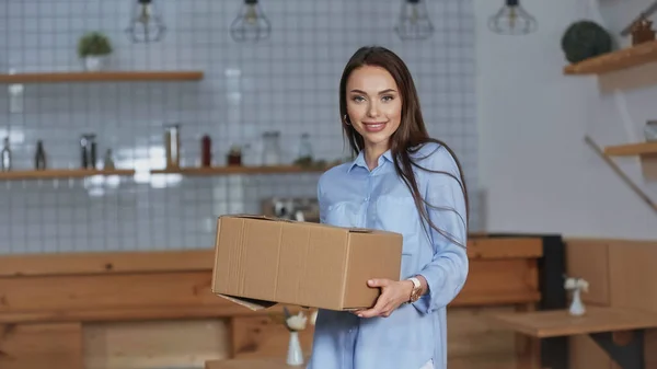
POLYGON ((657 328, 657 313, 618 308, 587 307, 583 316, 550 310, 492 318, 502 326, 537 338, 588 334, 624 369, 645 368, 644 332, 657 328), (614 339, 621 333, 627 334, 622 344, 614 339))

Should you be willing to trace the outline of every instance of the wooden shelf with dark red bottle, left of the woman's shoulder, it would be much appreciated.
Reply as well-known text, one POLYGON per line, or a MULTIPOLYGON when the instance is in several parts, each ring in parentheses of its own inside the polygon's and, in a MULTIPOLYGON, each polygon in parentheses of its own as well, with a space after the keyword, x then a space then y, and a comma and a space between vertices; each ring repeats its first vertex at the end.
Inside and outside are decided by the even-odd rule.
POLYGON ((180 168, 152 170, 152 174, 182 174, 182 175, 220 175, 220 174, 288 174, 288 173, 320 173, 326 168, 302 168, 297 165, 276 166, 210 166, 210 168, 180 168))

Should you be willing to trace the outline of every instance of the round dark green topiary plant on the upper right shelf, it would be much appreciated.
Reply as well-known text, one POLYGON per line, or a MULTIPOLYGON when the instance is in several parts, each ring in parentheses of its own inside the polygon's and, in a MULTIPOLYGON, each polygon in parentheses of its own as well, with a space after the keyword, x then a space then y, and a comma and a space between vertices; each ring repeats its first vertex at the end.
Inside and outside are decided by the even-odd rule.
POLYGON ((613 41, 607 30, 592 21, 578 21, 566 30, 561 41, 569 62, 579 62, 611 51, 613 41))

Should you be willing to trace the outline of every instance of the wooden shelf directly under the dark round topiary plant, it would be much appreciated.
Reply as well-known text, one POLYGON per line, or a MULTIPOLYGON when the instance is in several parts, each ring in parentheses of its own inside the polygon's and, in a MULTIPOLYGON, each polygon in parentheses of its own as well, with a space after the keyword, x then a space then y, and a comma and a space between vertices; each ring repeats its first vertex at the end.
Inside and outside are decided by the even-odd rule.
POLYGON ((564 74, 604 74, 657 61, 657 41, 597 56, 564 68, 564 74))

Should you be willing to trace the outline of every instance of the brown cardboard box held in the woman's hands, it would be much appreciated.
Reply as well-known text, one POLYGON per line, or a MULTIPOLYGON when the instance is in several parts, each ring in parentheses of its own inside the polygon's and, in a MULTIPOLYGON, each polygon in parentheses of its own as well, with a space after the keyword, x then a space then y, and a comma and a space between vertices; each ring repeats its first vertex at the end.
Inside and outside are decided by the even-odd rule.
POLYGON ((402 260, 399 233, 249 215, 219 217, 215 247, 212 292, 253 310, 370 308, 402 260))

